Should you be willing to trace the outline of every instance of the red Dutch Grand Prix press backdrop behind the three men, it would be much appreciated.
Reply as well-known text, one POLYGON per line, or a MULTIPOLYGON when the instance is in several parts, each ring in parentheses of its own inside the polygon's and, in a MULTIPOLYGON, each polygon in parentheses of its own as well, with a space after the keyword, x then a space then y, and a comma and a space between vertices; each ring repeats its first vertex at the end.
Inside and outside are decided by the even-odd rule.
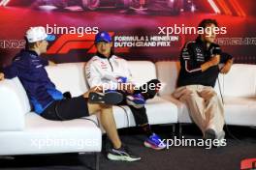
POLYGON ((216 42, 236 63, 256 64, 253 7, 254 0, 0 0, 0 67, 24 48, 25 31, 39 25, 56 37, 44 54, 56 63, 88 61, 103 30, 125 59, 177 60, 204 18, 218 21, 216 42))

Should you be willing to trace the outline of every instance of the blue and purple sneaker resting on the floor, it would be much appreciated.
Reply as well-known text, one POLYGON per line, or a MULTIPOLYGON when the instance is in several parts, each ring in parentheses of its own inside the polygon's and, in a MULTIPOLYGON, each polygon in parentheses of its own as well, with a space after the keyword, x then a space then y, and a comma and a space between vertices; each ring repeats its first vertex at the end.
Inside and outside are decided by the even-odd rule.
POLYGON ((163 150, 166 148, 166 144, 162 142, 161 138, 155 133, 153 133, 144 141, 144 146, 154 150, 163 150))

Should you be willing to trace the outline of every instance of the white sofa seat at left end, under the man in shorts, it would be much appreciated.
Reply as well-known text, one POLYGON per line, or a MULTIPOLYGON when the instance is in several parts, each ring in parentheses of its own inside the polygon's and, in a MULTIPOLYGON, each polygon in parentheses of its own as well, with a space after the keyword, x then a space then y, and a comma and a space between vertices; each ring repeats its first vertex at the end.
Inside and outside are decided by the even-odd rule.
POLYGON ((100 152, 102 132, 88 120, 48 121, 30 112, 22 131, 0 133, 0 155, 100 152))

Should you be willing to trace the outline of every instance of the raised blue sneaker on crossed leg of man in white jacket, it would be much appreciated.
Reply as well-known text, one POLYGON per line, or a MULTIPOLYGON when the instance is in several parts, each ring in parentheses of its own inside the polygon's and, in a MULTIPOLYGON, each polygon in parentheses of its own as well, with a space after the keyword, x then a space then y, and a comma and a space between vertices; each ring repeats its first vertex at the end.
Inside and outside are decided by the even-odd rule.
POLYGON ((145 100, 142 94, 134 94, 127 96, 126 102, 128 105, 132 105, 135 108, 142 108, 144 106, 145 100))

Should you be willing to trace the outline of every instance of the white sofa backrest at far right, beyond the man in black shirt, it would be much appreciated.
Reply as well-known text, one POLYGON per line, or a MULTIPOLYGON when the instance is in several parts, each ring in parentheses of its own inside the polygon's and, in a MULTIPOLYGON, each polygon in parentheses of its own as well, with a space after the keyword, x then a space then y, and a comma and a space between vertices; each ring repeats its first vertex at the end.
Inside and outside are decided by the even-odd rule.
POLYGON ((224 75, 224 96, 255 97, 256 66, 234 64, 231 71, 224 75))

